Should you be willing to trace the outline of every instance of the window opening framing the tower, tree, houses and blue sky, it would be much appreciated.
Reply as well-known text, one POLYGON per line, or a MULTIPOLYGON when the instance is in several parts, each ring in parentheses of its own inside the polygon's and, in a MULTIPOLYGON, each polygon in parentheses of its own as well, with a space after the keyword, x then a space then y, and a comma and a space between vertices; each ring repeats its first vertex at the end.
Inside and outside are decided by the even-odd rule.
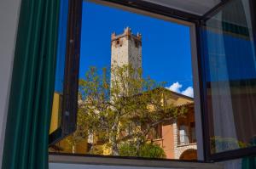
POLYGON ((55 152, 196 160, 189 27, 88 1, 82 16, 77 130, 55 152))

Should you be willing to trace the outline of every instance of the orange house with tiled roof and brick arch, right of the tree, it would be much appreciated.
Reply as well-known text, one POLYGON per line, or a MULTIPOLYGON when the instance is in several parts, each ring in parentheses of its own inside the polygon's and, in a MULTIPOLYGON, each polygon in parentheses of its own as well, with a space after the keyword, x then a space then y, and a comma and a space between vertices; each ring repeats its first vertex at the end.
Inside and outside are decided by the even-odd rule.
POLYGON ((167 159, 197 160, 194 99, 168 89, 165 98, 167 104, 183 106, 187 112, 177 120, 165 121, 155 127, 152 141, 164 149, 167 159))

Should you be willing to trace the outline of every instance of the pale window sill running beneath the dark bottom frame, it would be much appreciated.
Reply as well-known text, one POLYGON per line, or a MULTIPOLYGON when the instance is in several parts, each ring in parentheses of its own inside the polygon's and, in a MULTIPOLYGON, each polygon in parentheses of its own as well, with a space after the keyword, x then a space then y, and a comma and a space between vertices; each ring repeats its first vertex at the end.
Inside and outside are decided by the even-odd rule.
POLYGON ((135 157, 116 157, 102 155, 72 155, 49 153, 49 163, 106 165, 106 166, 144 166, 159 168, 188 168, 188 169, 224 169, 220 164, 203 161, 177 161, 166 159, 147 159, 135 157))

